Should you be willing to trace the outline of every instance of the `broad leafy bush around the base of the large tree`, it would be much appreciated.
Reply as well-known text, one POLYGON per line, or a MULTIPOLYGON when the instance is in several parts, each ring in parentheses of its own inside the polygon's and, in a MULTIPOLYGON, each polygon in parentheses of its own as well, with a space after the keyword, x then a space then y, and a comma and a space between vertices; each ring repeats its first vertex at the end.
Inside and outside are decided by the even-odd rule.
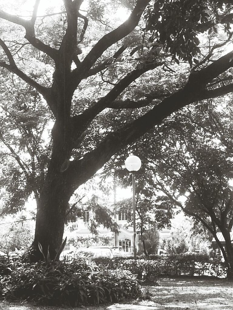
POLYGON ((1 295, 6 298, 75 307, 117 302, 140 294, 140 284, 129 271, 101 271, 95 264, 87 265, 81 259, 71 263, 16 262, 10 270, 7 268, 2 268, 1 274, 1 295))

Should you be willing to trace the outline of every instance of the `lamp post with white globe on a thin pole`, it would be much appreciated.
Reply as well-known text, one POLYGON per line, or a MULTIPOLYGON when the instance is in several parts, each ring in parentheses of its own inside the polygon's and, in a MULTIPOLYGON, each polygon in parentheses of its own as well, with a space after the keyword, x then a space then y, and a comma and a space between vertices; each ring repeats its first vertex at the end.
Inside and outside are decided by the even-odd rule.
POLYGON ((142 162, 139 157, 131 155, 126 158, 125 166, 126 169, 132 172, 132 184, 133 184, 133 226, 134 226, 134 260, 137 260, 136 256, 136 223, 135 223, 135 171, 141 168, 142 162))

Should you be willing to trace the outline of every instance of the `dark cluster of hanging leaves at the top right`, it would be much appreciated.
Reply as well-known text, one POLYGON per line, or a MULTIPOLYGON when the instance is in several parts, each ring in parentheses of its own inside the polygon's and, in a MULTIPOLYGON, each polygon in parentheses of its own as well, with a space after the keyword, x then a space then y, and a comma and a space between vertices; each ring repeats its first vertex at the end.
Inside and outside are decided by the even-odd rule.
MULTIPOLYGON (((150 41, 162 43, 166 52, 179 59, 189 61, 199 53, 198 33, 212 30, 217 33, 215 24, 218 9, 224 12, 223 2, 175 0, 156 1, 145 13, 146 30, 151 33, 150 41)), ((226 13, 227 14, 227 9, 226 13)), ((228 26, 229 28, 229 26, 228 26)))

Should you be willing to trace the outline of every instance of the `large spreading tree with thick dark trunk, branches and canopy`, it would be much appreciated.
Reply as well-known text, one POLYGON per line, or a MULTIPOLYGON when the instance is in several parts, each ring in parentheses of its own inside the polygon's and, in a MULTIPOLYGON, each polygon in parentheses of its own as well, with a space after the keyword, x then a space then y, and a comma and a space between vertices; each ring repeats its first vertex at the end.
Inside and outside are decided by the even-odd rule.
MULTIPOLYGON (((44 251, 49 246, 55 257, 71 195, 114 154, 174 111, 233 90, 233 52, 213 55, 231 39, 232 5, 228 2, 121 1, 118 5, 127 7, 130 15, 122 24, 114 21, 116 25, 106 18, 103 5, 94 1, 63 0, 62 12, 40 17, 39 2, 35 0, 31 17, 0 10, 5 25, 0 39, 4 74, 9 71, 33 87, 55 119, 51 157, 38 191, 36 259, 40 259, 38 241, 44 251), (82 14, 84 4, 89 5, 87 15, 82 14), (88 22, 95 31, 85 41, 88 22), (220 41, 212 34, 217 25, 223 31, 220 41), (208 50, 198 47, 205 36, 208 50), (85 45, 83 54, 81 43, 85 45), (26 66, 28 57, 32 63, 39 59, 46 64, 40 73, 26 66), (190 68, 193 62, 195 66, 192 70, 185 66, 188 75, 182 72, 177 78, 181 61, 190 68), (155 75, 148 74, 151 70, 155 75), (169 79, 168 89, 163 81, 169 79), (82 92, 90 82, 99 85, 100 95, 83 100, 84 95, 87 99, 92 96, 82 92), (105 116, 105 126, 98 131, 98 120, 105 116)), ((108 1, 104 4, 114 16, 116 6, 108 1)))

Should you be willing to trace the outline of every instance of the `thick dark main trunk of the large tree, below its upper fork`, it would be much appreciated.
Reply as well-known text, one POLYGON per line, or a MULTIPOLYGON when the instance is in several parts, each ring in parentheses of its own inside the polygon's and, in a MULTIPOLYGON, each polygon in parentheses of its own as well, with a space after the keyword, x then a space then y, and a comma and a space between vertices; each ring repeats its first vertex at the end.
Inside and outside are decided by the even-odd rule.
POLYGON ((55 259, 62 245, 67 205, 75 190, 65 176, 72 150, 69 133, 69 122, 56 121, 52 131, 53 153, 37 206, 31 261, 44 259, 43 255, 47 258, 48 251, 49 258, 55 259))

